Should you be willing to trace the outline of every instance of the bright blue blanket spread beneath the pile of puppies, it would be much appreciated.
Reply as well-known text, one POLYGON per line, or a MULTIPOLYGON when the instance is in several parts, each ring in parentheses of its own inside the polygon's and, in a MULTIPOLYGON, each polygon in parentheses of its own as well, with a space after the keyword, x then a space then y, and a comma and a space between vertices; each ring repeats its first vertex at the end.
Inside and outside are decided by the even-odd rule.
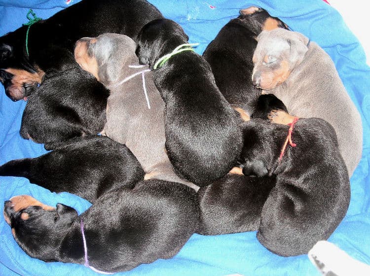
MULTIPOLYGON (((33 8, 38 17, 48 18, 78 0, 0 0, 0 35, 13 31, 27 21, 33 8)), ((339 13, 322 0, 149 0, 167 18, 180 23, 189 42, 199 42, 202 54, 207 44, 240 8, 257 5, 282 19, 294 31, 316 41, 332 57, 339 75, 362 116, 364 127, 363 158, 351 177, 352 198, 346 217, 329 241, 349 255, 370 264, 370 68, 357 38, 349 31, 339 13)), ((237 38, 236 38, 237 39, 237 38)), ((323 72, 325 73, 325 72, 323 72)), ((0 164, 9 160, 36 157, 46 151, 43 145, 20 137, 24 101, 11 102, 0 87, 0 164)), ((334 103, 333 103, 334 104, 334 103)), ((0 177, 0 204, 13 196, 28 194, 55 206, 60 202, 83 212, 87 201, 68 194, 55 194, 25 178, 0 177)), ((256 232, 221 236, 193 235, 172 259, 157 260, 122 276, 319 276, 306 255, 280 257, 265 249, 256 232)), ((0 217, 1 276, 71 276, 98 275, 82 265, 46 263, 29 257, 14 241, 10 227, 0 217)))

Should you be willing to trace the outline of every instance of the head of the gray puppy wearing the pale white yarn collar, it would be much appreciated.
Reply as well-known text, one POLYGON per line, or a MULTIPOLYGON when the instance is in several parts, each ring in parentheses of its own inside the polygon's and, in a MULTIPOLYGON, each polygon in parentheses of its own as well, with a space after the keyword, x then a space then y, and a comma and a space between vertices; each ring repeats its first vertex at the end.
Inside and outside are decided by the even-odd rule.
POLYGON ((138 64, 136 44, 127 35, 103 34, 77 40, 74 58, 79 66, 108 85, 127 70, 128 65, 138 64))

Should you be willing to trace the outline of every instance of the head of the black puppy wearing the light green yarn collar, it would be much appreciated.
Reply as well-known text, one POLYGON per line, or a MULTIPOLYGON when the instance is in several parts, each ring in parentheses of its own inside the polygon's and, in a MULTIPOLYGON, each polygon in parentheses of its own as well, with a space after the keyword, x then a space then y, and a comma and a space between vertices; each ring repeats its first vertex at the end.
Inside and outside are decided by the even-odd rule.
POLYGON ((144 25, 137 38, 136 55, 141 64, 152 68, 163 55, 187 43, 183 28, 169 19, 156 19, 144 25))

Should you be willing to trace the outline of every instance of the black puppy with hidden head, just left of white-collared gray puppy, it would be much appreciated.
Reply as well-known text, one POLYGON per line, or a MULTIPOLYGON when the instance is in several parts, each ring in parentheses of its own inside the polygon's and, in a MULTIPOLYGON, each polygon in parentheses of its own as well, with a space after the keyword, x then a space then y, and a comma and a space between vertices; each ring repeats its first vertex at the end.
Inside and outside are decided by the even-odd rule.
POLYGON ((71 138, 98 134, 106 123, 108 96, 109 90, 78 65, 45 75, 27 101, 20 134, 44 143, 46 150, 71 138))

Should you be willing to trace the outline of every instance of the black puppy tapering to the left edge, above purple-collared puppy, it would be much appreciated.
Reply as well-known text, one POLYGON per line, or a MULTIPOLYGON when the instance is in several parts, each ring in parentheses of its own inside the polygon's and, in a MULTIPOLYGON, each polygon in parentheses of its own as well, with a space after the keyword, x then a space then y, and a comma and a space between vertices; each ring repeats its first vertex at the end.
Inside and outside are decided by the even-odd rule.
POLYGON ((140 163, 125 146, 104 136, 85 136, 37 158, 9 161, 1 176, 22 176, 52 192, 69 192, 92 203, 144 179, 140 163))

